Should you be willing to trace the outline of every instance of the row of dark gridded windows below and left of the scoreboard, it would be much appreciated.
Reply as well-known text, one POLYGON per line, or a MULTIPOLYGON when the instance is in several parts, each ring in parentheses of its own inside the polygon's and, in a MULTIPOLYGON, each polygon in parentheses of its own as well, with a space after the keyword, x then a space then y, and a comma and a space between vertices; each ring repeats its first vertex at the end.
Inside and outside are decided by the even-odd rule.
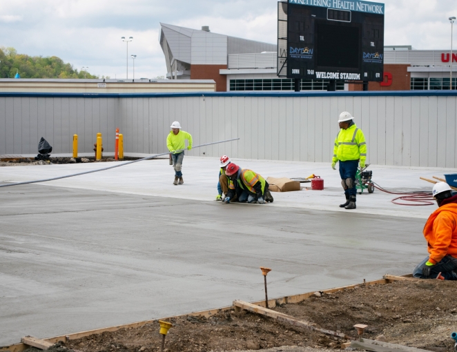
MULTIPOLYGON (((302 79, 301 90, 327 90, 328 79, 302 79)), ((294 90, 293 79, 231 79, 230 90, 294 90)), ((344 81, 336 81, 336 90, 344 90, 344 81)))

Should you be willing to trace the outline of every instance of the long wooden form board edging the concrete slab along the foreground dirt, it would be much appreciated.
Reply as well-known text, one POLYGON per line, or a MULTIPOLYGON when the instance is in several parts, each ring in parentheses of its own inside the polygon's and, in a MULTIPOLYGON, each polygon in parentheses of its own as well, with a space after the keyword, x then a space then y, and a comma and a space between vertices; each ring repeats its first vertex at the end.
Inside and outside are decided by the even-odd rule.
MULTIPOLYGON (((412 275, 405 275, 405 277, 410 277, 412 275)), ((342 286, 342 287, 337 287, 335 289, 329 289, 329 290, 324 290, 320 291, 321 293, 333 293, 333 292, 338 292, 338 291, 343 291, 347 289, 354 289, 356 286, 361 286, 361 285, 378 285, 378 284, 389 284, 391 280, 386 280, 386 279, 381 279, 381 280, 374 280, 374 281, 369 281, 369 282, 364 282, 362 284, 353 284, 353 285, 348 285, 348 286, 342 286)), ((274 298, 269 300, 269 307, 274 308, 277 305, 280 304, 289 304, 289 303, 300 303, 303 302, 304 300, 307 300, 309 297, 311 297, 315 291, 309 292, 309 293, 302 293, 300 295, 291 295, 291 296, 285 296, 285 297, 279 297, 279 298, 274 298)), ((255 304, 257 306, 265 306, 265 300, 258 301, 258 302, 252 302, 252 304, 255 304)), ((234 306, 226 306, 222 308, 217 308, 217 309, 210 309, 208 311, 199 311, 199 312, 193 312, 193 313, 188 313, 188 314, 182 314, 182 315, 175 315, 173 317, 186 317, 188 315, 193 315, 193 316, 204 316, 204 317, 210 317, 211 315, 223 312, 223 311, 230 311, 231 309, 234 309, 234 306)), ((104 333, 105 331, 117 331, 119 329, 135 329, 139 328, 141 326, 144 326, 146 324, 152 324, 154 322, 158 322, 159 320, 167 320, 171 319, 172 317, 161 317, 153 320, 144 320, 142 322, 134 322, 130 324, 122 324, 122 325, 117 325, 117 326, 109 326, 107 328, 101 328, 101 329, 94 329, 94 330, 89 330, 89 331, 81 331, 79 333, 71 333, 68 335, 61 335, 61 336, 55 336, 53 338, 45 338, 43 340, 51 342, 52 344, 55 344, 59 341, 65 342, 66 340, 76 340, 79 338, 85 338, 86 336, 90 335, 95 335, 99 333, 104 333)), ((26 350, 28 346, 23 343, 19 344, 11 344, 9 346, 0 346, 0 352, 22 352, 26 350)))

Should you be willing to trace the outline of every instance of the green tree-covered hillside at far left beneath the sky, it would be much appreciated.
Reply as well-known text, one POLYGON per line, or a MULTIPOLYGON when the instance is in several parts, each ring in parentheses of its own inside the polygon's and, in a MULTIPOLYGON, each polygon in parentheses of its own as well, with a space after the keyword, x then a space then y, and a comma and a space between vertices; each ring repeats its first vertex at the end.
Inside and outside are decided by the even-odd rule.
POLYGON ((12 47, 0 48, 0 78, 14 78, 19 72, 21 78, 99 78, 89 72, 73 68, 71 63, 65 63, 57 56, 30 57, 18 54, 12 47))

